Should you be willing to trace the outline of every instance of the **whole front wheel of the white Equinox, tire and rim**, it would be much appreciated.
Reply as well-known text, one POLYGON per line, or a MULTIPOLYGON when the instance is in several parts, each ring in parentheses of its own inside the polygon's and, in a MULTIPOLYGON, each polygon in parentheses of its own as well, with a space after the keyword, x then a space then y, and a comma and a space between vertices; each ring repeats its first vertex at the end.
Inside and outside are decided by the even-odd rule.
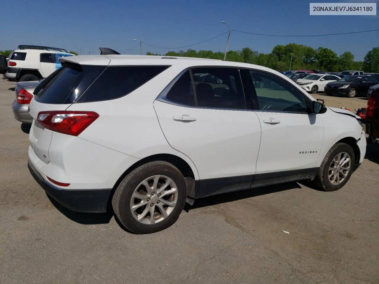
POLYGON ((343 187, 355 168, 355 154, 352 147, 345 143, 335 144, 326 154, 315 184, 325 191, 334 191, 343 187))

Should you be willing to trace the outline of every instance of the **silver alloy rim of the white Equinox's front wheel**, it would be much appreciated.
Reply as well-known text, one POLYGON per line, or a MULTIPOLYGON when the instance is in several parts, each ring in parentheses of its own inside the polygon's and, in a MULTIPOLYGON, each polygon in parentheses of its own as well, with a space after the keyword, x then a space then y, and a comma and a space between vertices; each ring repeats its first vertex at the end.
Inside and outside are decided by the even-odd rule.
POLYGON ((341 152, 334 157, 329 166, 328 178, 333 185, 342 183, 350 172, 351 158, 346 152, 341 152))

